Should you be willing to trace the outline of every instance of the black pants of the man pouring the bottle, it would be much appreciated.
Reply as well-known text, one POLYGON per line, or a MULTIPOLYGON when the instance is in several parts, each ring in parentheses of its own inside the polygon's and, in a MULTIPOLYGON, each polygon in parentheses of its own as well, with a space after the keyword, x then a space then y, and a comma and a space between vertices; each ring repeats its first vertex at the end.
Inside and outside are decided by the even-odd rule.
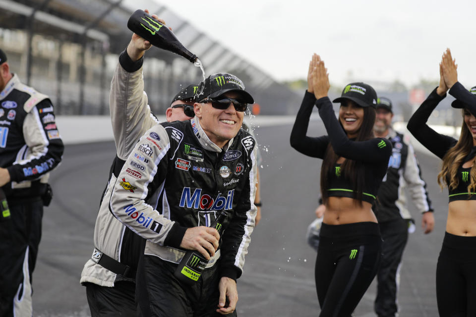
POLYGON ((114 287, 84 283, 91 317, 138 317, 135 304, 135 283, 120 281, 114 287))

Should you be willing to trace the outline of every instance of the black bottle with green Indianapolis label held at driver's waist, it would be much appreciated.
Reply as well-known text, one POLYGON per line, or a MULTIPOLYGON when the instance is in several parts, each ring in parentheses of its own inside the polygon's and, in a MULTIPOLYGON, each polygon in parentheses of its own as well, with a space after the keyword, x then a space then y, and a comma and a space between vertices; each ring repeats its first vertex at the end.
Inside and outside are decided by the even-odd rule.
MULTIPOLYGON (((217 229, 220 235, 223 232, 223 221, 227 215, 227 211, 221 211, 210 225, 210 227, 217 229)), ((200 252, 188 250, 180 261, 179 266, 177 266, 174 275, 179 281, 187 285, 193 285, 200 278, 208 262, 209 260, 205 259, 200 252)))

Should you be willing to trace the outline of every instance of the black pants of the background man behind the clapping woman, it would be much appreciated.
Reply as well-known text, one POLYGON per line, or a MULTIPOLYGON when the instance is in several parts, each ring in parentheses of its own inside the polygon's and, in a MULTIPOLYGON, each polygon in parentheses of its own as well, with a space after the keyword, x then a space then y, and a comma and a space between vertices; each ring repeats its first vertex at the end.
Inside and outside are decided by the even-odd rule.
POLYGON ((379 317, 394 317, 398 312, 397 290, 400 282, 400 263, 408 240, 408 220, 380 222, 382 260, 377 271, 375 313, 379 317))

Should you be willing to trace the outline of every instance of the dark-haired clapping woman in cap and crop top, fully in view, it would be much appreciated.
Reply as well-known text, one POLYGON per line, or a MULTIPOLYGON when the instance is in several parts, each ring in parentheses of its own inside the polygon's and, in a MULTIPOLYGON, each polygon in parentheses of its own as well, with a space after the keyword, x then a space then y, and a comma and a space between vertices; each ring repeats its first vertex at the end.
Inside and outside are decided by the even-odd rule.
POLYGON ((323 159, 321 194, 326 212, 315 265, 320 317, 350 316, 380 263, 381 238, 372 211, 392 153, 391 143, 373 137, 377 96, 369 85, 347 85, 339 120, 327 97, 329 79, 316 54, 309 63, 308 89, 291 133, 291 146, 323 159), (328 135, 306 136, 313 106, 328 135))

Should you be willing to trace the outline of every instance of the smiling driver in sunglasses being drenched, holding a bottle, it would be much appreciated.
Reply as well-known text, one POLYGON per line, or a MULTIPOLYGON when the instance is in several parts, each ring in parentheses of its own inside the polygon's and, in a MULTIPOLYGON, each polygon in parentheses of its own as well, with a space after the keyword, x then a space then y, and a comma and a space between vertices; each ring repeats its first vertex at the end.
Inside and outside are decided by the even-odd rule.
POLYGON ((253 99, 227 73, 209 76, 197 91, 195 117, 149 129, 111 194, 111 212, 147 239, 138 288, 147 290, 153 316, 235 313, 236 279, 254 227, 256 142, 240 129, 253 99), (130 166, 140 169, 140 178, 127 173, 130 166), (223 210, 229 214, 220 237, 208 225, 223 210), (184 250, 210 259, 192 286, 174 276, 184 250))

